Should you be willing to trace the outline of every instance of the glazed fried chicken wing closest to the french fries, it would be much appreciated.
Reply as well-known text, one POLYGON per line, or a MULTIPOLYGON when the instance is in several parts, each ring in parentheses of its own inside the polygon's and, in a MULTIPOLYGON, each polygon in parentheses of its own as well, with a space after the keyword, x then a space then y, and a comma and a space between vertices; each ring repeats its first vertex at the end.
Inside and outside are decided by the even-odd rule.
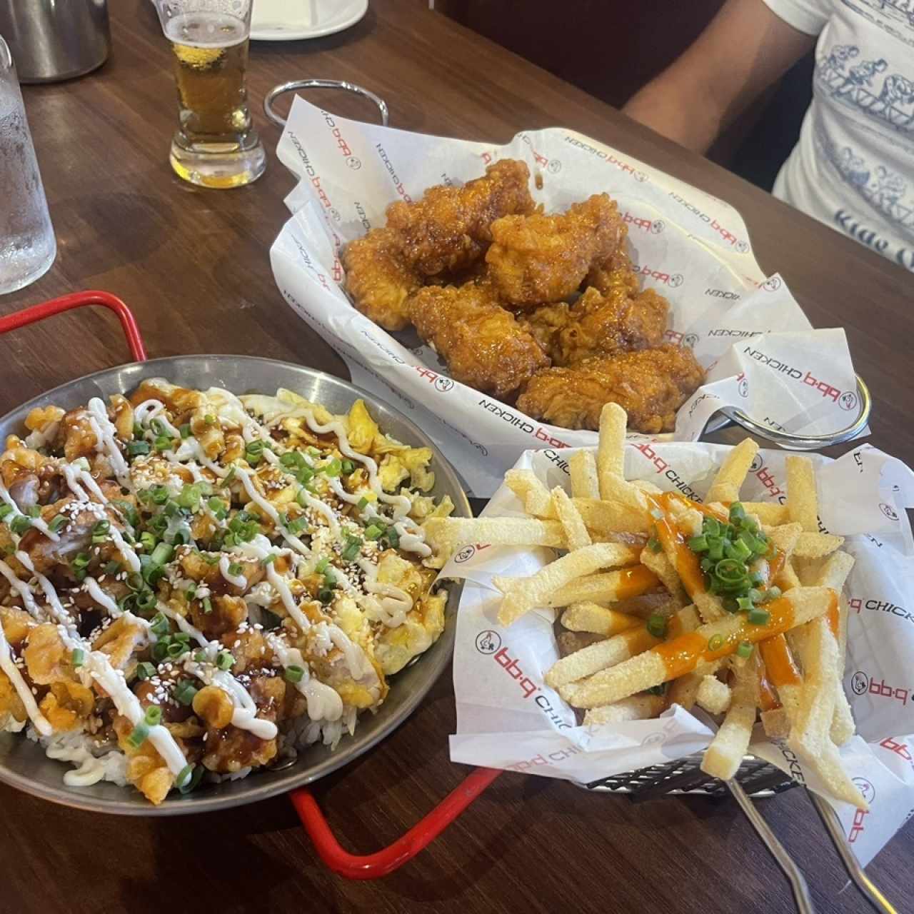
POLYGON ((517 399, 528 416, 567 429, 600 427, 605 403, 618 403, 635 431, 671 431, 676 409, 701 384, 704 371, 691 349, 657 349, 591 358, 571 368, 547 368, 517 399))

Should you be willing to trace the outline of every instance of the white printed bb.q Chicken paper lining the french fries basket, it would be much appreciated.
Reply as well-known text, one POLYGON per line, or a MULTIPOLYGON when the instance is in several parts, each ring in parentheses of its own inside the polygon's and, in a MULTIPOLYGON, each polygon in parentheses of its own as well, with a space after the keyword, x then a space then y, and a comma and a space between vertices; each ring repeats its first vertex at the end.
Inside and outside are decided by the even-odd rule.
MULTIPOLYGON (((675 442, 630 443, 625 475, 664 491, 701 500, 728 447, 675 442)), ((553 488, 569 488, 572 452, 526 452, 517 462, 553 488)), ((785 457, 760 451, 741 496, 783 504, 785 457)), ((790 749, 771 742, 758 726, 750 751, 803 781, 833 803, 861 864, 914 814, 914 540, 905 508, 914 506, 914 473, 868 445, 836 461, 810 455, 817 469, 820 521, 846 537, 856 564, 845 585, 850 615, 845 692, 858 736, 842 759, 870 803, 862 813, 824 792, 790 749)), ((484 516, 520 516, 523 507, 502 486, 484 516)), ((558 659, 555 611, 538 609, 508 628, 497 622, 500 594, 495 575, 532 574, 552 550, 462 547, 442 569, 464 579, 454 650, 457 732, 453 761, 587 783, 611 774, 682 758, 704 749, 713 736, 710 718, 675 706, 655 720, 581 727, 574 711, 545 683, 558 659)), ((701 712, 698 712, 701 714, 701 712)))

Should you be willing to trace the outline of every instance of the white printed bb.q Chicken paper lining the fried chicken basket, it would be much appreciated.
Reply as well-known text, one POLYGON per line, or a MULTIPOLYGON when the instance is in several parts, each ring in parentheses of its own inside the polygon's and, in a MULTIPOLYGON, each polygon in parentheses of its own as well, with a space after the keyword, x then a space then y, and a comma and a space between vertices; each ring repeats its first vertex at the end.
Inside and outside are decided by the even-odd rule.
POLYGON ((292 218, 271 248, 282 295, 345 359, 353 381, 409 414, 476 495, 491 495, 528 448, 586 446, 455 382, 414 331, 388 334, 341 288, 341 248, 384 224, 396 199, 523 159, 547 210, 608 192, 628 224, 643 286, 669 300, 668 338, 691 346, 707 382, 679 410, 675 435, 694 441, 724 405, 779 430, 825 434, 856 419, 856 379, 843 330, 813 330, 785 282, 766 279, 739 213, 709 194, 574 131, 519 133, 504 146, 348 121, 296 98, 277 154, 299 177, 292 218))

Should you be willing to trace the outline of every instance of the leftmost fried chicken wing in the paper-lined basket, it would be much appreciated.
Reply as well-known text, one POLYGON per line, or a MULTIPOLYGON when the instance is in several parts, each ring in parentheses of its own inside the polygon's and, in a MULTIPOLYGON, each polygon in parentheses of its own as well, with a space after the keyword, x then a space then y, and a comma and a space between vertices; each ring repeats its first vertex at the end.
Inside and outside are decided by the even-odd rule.
POLYGON ((385 330, 409 325, 406 300, 420 285, 389 228, 372 228, 343 251, 345 287, 356 308, 385 330))

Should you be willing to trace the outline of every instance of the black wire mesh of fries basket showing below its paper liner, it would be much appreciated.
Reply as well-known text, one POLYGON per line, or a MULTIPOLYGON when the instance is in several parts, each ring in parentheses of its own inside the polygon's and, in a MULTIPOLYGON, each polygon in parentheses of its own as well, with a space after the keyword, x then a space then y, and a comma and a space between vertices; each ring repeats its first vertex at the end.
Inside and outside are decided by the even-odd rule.
MULTIPOLYGON (((665 765, 649 765, 638 771, 625 771, 609 778, 581 784, 589 791, 628 793, 633 802, 652 800, 668 793, 699 793, 705 796, 729 796, 727 785, 701 770, 701 754, 689 755, 665 765)), ((773 796, 796 786, 780 768, 771 762, 746 756, 739 766, 736 780, 753 797, 773 796)))

